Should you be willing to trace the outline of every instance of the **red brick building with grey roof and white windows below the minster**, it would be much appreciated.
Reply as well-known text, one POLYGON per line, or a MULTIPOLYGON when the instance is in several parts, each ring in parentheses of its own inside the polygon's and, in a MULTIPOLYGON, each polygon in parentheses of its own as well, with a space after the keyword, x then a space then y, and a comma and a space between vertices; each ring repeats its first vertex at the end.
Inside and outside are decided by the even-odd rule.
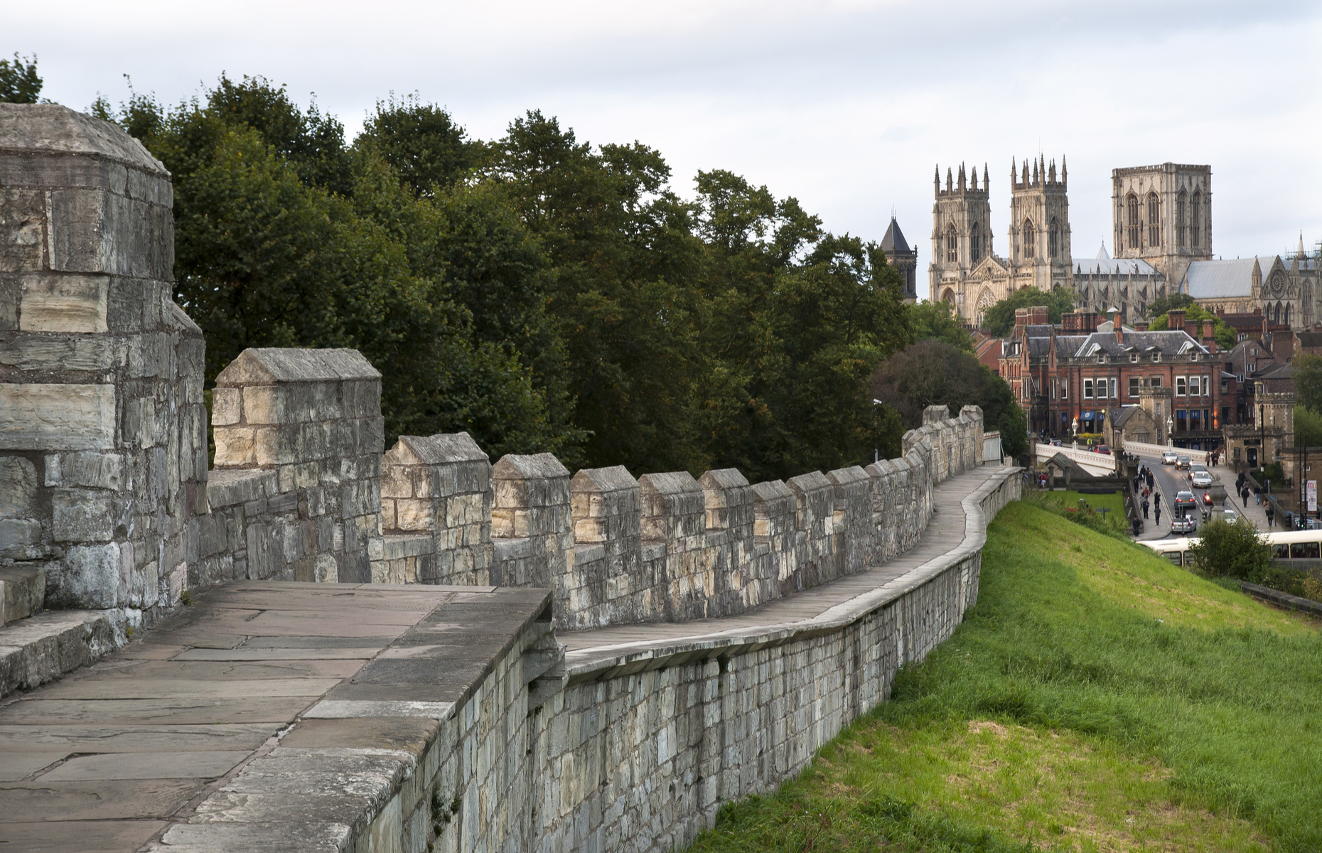
MULTIPOLYGON (((1177 447, 1220 444, 1220 372, 1212 324, 1185 324, 1170 312, 1171 331, 1133 329, 1089 311, 1047 323, 1044 307, 1021 308, 1005 343, 1001 377, 1010 384, 1036 435, 1069 438, 1103 432, 1125 406, 1138 405, 1146 380, 1171 389, 1169 428, 1177 447)), ((1158 440, 1165 440, 1165 430, 1158 440)))

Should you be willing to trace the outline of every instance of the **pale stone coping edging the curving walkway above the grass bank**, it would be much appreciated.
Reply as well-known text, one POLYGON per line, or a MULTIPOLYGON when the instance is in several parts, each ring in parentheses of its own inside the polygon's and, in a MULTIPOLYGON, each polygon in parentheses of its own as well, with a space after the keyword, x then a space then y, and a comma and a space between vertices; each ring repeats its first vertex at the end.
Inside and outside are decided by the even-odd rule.
MULTIPOLYGON (((676 665, 682 663, 680 659, 713 659, 735 652, 743 653, 754 648, 777 645, 796 637, 838 631, 845 626, 853 624, 890 602, 902 598, 906 592, 923 586, 933 577, 949 570, 968 557, 977 554, 984 544, 986 544, 988 518, 982 510, 982 501, 997 489, 1011 483, 1011 477, 1019 476, 1021 471, 1022 468, 997 468, 982 485, 960 501, 965 513, 964 536, 954 548, 874 590, 836 604, 816 616, 797 622, 779 622, 760 626, 743 624, 728 631, 694 633, 687 637, 644 639, 632 643, 570 651, 564 655, 568 682, 607 677, 608 673, 613 677, 615 674, 631 670, 676 665), (603 656, 603 652, 617 653, 603 656)), ((637 630, 645 632, 648 627, 639 626, 637 630)))

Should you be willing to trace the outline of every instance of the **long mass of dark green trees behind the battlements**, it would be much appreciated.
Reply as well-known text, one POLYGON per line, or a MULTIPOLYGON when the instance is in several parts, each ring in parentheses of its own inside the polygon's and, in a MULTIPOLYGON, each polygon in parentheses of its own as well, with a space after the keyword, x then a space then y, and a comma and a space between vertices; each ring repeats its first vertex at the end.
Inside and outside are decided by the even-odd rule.
POLYGON ((484 142, 391 95, 349 143, 260 77, 93 111, 173 175, 208 381, 246 346, 353 346, 389 440, 754 480, 898 451, 867 378, 912 341, 899 275, 793 197, 713 169, 682 198, 658 151, 538 111, 484 142))

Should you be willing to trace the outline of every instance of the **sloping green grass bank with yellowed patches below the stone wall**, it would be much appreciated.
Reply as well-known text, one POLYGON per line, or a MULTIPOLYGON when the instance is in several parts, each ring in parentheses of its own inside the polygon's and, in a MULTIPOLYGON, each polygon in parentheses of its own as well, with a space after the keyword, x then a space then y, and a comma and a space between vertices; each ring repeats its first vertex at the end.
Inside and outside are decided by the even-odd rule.
POLYGON ((954 636, 694 850, 1318 850, 1319 767, 1315 623, 1021 501, 954 636))

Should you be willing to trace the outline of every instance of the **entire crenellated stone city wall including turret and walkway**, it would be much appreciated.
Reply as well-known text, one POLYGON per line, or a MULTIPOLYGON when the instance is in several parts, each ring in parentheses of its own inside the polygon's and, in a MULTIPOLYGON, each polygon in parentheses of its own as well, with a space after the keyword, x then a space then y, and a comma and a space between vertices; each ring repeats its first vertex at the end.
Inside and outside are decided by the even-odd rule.
POLYGON ((208 414, 171 200, 119 130, 0 104, 15 849, 682 848, 977 599, 1021 480, 976 407, 758 484, 386 450, 354 350, 246 350, 208 414))

